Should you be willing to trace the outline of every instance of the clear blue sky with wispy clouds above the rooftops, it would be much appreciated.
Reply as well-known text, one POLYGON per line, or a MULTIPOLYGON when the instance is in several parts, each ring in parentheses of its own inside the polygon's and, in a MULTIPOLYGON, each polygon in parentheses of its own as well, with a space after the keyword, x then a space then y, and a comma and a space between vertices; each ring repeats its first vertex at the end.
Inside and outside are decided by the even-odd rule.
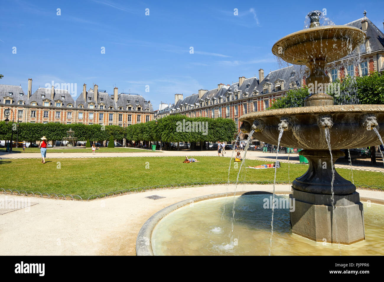
POLYGON ((280 68, 273 44, 303 29, 311 10, 326 9, 336 25, 367 10, 383 29, 380 1, 310 2, 2 0, 0 83, 21 84, 25 92, 28 78, 32 92, 51 81, 77 83, 77 96, 83 83, 109 94, 116 84, 158 109, 175 93, 185 97, 280 68))

